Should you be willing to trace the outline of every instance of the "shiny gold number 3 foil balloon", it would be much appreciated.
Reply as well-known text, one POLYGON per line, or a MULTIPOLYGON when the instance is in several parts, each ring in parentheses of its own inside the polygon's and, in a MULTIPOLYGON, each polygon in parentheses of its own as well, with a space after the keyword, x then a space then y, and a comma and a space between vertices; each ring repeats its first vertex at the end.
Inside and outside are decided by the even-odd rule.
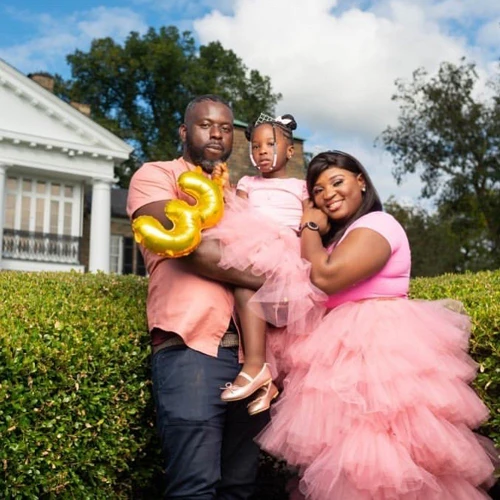
POLYGON ((181 191, 195 199, 195 204, 183 200, 170 200, 165 204, 165 215, 172 221, 172 229, 165 229, 150 215, 141 215, 132 221, 137 243, 171 258, 183 257, 195 250, 201 243, 201 231, 215 226, 224 215, 223 176, 208 179, 197 167, 182 173, 177 184, 181 191))

